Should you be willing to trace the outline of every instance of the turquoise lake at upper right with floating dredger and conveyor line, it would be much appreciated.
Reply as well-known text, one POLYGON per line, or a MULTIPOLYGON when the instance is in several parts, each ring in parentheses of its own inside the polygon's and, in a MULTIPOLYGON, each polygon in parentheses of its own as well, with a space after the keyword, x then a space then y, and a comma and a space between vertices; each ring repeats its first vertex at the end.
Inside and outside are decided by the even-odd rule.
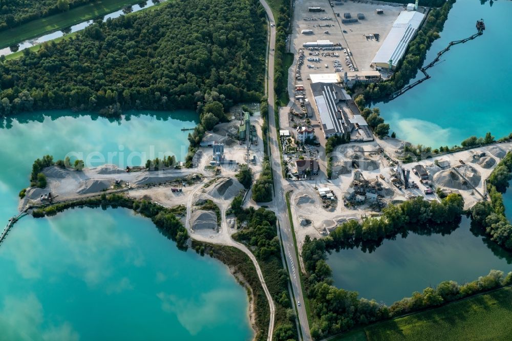
MULTIPOLYGON (((477 0, 457 1, 425 64, 450 41, 476 33, 475 23, 480 18, 485 20, 483 35, 452 47, 441 63, 429 69, 431 79, 388 103, 375 104, 391 125, 390 131, 398 138, 433 148, 460 144, 488 131, 497 138, 511 133, 510 15, 510 1, 483 5, 477 0)), ((420 75, 418 72, 418 79, 420 75)))

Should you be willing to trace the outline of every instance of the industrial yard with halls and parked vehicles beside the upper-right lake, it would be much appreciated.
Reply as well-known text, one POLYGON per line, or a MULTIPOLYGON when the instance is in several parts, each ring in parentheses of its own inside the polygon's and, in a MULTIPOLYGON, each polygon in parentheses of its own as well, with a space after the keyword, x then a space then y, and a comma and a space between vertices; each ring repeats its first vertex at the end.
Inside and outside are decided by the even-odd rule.
POLYGON ((418 20, 410 25, 411 18, 420 19, 426 12, 421 7, 417 12, 405 10, 403 5, 382 2, 295 2, 289 37, 289 50, 295 54, 288 84, 292 101, 290 108, 280 110, 282 129, 292 135, 301 126, 314 129, 321 145, 334 135, 353 142, 373 140, 366 120, 344 88, 388 76, 387 69, 375 63, 371 66, 377 55, 387 55, 388 50, 401 53, 394 40, 388 40, 389 49, 381 49, 388 33, 398 25, 406 27, 410 36, 414 25, 419 25, 418 20))

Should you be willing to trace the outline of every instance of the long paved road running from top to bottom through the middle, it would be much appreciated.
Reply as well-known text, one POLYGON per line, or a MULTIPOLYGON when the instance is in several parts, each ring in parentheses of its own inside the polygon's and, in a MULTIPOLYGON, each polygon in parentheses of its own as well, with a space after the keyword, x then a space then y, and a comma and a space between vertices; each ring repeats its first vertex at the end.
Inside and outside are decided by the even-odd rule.
POLYGON ((274 177, 274 207, 277 213, 279 226, 281 228, 281 236, 283 239, 284 255, 286 263, 288 264, 288 270, 290 274, 290 280, 292 284, 293 294, 295 300, 301 302, 301 306, 297 306, 297 316, 301 323, 302 335, 304 340, 311 340, 311 334, 309 332, 308 317, 306 315, 306 309, 304 308, 304 297, 302 294, 301 280, 298 271, 300 266, 298 265, 297 256, 295 253, 295 246, 293 242, 292 230, 290 227, 290 220, 288 216, 288 208, 286 206, 284 185, 287 184, 282 178, 281 169, 281 155, 279 153, 279 140, 278 132, 275 127, 274 114, 274 49, 275 49, 275 20, 270 10, 270 7, 265 0, 260 0, 261 4, 267 12, 268 20, 270 25, 270 44, 268 51, 268 62, 267 62, 267 94, 268 94, 268 112, 269 112, 269 148, 271 149, 271 163, 274 177))

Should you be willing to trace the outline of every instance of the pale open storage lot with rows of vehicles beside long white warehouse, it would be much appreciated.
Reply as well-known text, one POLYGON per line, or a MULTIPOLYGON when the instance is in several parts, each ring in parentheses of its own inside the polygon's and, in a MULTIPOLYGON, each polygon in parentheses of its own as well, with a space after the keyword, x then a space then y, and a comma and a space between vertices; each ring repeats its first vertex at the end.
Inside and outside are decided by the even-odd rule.
POLYGON ((330 40, 335 45, 332 48, 305 49, 304 63, 299 70, 302 79, 309 78, 312 73, 351 71, 350 66, 353 70, 371 70, 373 57, 398 14, 404 9, 399 4, 390 6, 382 2, 346 1, 341 2, 343 5, 333 4, 331 7, 327 0, 295 2, 290 42, 290 52, 296 54, 295 61, 298 50, 303 48, 305 42, 330 40), (308 11, 312 6, 321 7, 324 11, 308 11), (383 14, 377 14, 377 8, 383 9, 383 14), (364 14, 365 18, 343 24, 345 13, 350 13, 352 19, 357 19, 359 13, 364 14))

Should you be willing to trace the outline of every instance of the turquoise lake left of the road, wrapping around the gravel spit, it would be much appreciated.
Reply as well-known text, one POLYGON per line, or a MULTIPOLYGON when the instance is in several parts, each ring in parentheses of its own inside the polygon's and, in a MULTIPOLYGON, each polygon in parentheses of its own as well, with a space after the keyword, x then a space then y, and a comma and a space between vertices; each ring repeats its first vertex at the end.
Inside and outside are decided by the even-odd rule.
MULTIPOLYGON (((0 130, 0 219, 17 210, 32 162, 83 153, 90 165, 183 160, 194 112, 127 112, 120 121, 69 111, 31 113, 0 130), (137 116, 137 117, 135 117, 137 116), (117 153, 117 154, 115 154, 117 153), (132 156, 132 157, 131 157, 132 156)), ((87 163, 87 162, 86 162, 87 163)), ((247 340, 248 299, 228 268, 179 251, 127 209, 73 209, 16 223, 0 245, 0 329, 9 340, 247 340)))

